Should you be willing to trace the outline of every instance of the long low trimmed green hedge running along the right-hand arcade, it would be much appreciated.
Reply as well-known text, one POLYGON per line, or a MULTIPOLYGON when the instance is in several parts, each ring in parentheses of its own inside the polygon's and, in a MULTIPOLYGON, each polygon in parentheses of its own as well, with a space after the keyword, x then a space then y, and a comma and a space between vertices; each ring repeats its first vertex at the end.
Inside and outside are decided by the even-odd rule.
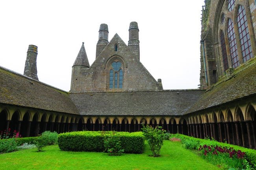
MULTIPOLYGON (((210 139, 198 139, 195 137, 190 137, 187 135, 182 134, 171 134, 171 137, 177 137, 181 139, 181 142, 184 144, 186 140, 193 141, 194 143, 198 143, 197 148, 198 149, 201 146, 204 146, 205 144, 208 146, 221 146, 221 147, 228 147, 228 148, 234 148, 235 150, 241 150, 241 152, 245 152, 245 160, 249 162, 249 165, 252 165, 253 167, 256 167, 256 150, 243 148, 241 146, 232 145, 228 143, 221 143, 210 139)), ((245 164, 244 164, 245 165, 245 164)))

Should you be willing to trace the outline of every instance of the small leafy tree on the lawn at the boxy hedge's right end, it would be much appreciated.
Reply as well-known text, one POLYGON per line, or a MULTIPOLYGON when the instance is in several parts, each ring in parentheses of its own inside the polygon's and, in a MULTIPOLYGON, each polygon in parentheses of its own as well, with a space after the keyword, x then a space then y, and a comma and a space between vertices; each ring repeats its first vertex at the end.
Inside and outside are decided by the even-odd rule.
POLYGON ((144 124, 142 124, 142 126, 143 134, 150 146, 153 156, 159 157, 161 147, 163 146, 165 130, 162 130, 161 126, 156 126, 156 128, 148 125, 145 126, 144 124))

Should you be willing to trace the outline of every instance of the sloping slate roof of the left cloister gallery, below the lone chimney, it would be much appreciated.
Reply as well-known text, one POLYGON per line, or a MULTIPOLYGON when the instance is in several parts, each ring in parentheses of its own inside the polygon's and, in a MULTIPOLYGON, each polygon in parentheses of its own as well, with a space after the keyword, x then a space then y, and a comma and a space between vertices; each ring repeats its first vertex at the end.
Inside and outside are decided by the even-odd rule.
POLYGON ((2 67, 0 103, 79 114, 67 92, 2 67))

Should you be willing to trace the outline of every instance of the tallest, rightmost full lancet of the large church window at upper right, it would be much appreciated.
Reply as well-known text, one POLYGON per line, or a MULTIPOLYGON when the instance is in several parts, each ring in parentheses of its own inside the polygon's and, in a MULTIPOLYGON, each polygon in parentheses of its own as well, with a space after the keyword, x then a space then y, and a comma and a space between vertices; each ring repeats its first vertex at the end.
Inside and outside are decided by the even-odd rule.
POLYGON ((252 46, 250 42, 250 35, 249 35, 249 29, 247 24, 247 18, 245 14, 245 8, 241 5, 238 6, 237 27, 238 27, 239 39, 240 39, 241 50, 243 55, 243 62, 246 62, 253 56, 252 56, 252 46))

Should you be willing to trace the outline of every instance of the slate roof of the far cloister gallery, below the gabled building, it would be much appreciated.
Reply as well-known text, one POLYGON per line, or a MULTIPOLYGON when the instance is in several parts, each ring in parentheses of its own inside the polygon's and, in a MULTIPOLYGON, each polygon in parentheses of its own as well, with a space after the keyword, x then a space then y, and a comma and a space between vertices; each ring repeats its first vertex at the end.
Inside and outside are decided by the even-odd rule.
POLYGON ((183 115, 202 90, 70 93, 81 115, 183 115), (178 94, 177 94, 178 93, 178 94))

